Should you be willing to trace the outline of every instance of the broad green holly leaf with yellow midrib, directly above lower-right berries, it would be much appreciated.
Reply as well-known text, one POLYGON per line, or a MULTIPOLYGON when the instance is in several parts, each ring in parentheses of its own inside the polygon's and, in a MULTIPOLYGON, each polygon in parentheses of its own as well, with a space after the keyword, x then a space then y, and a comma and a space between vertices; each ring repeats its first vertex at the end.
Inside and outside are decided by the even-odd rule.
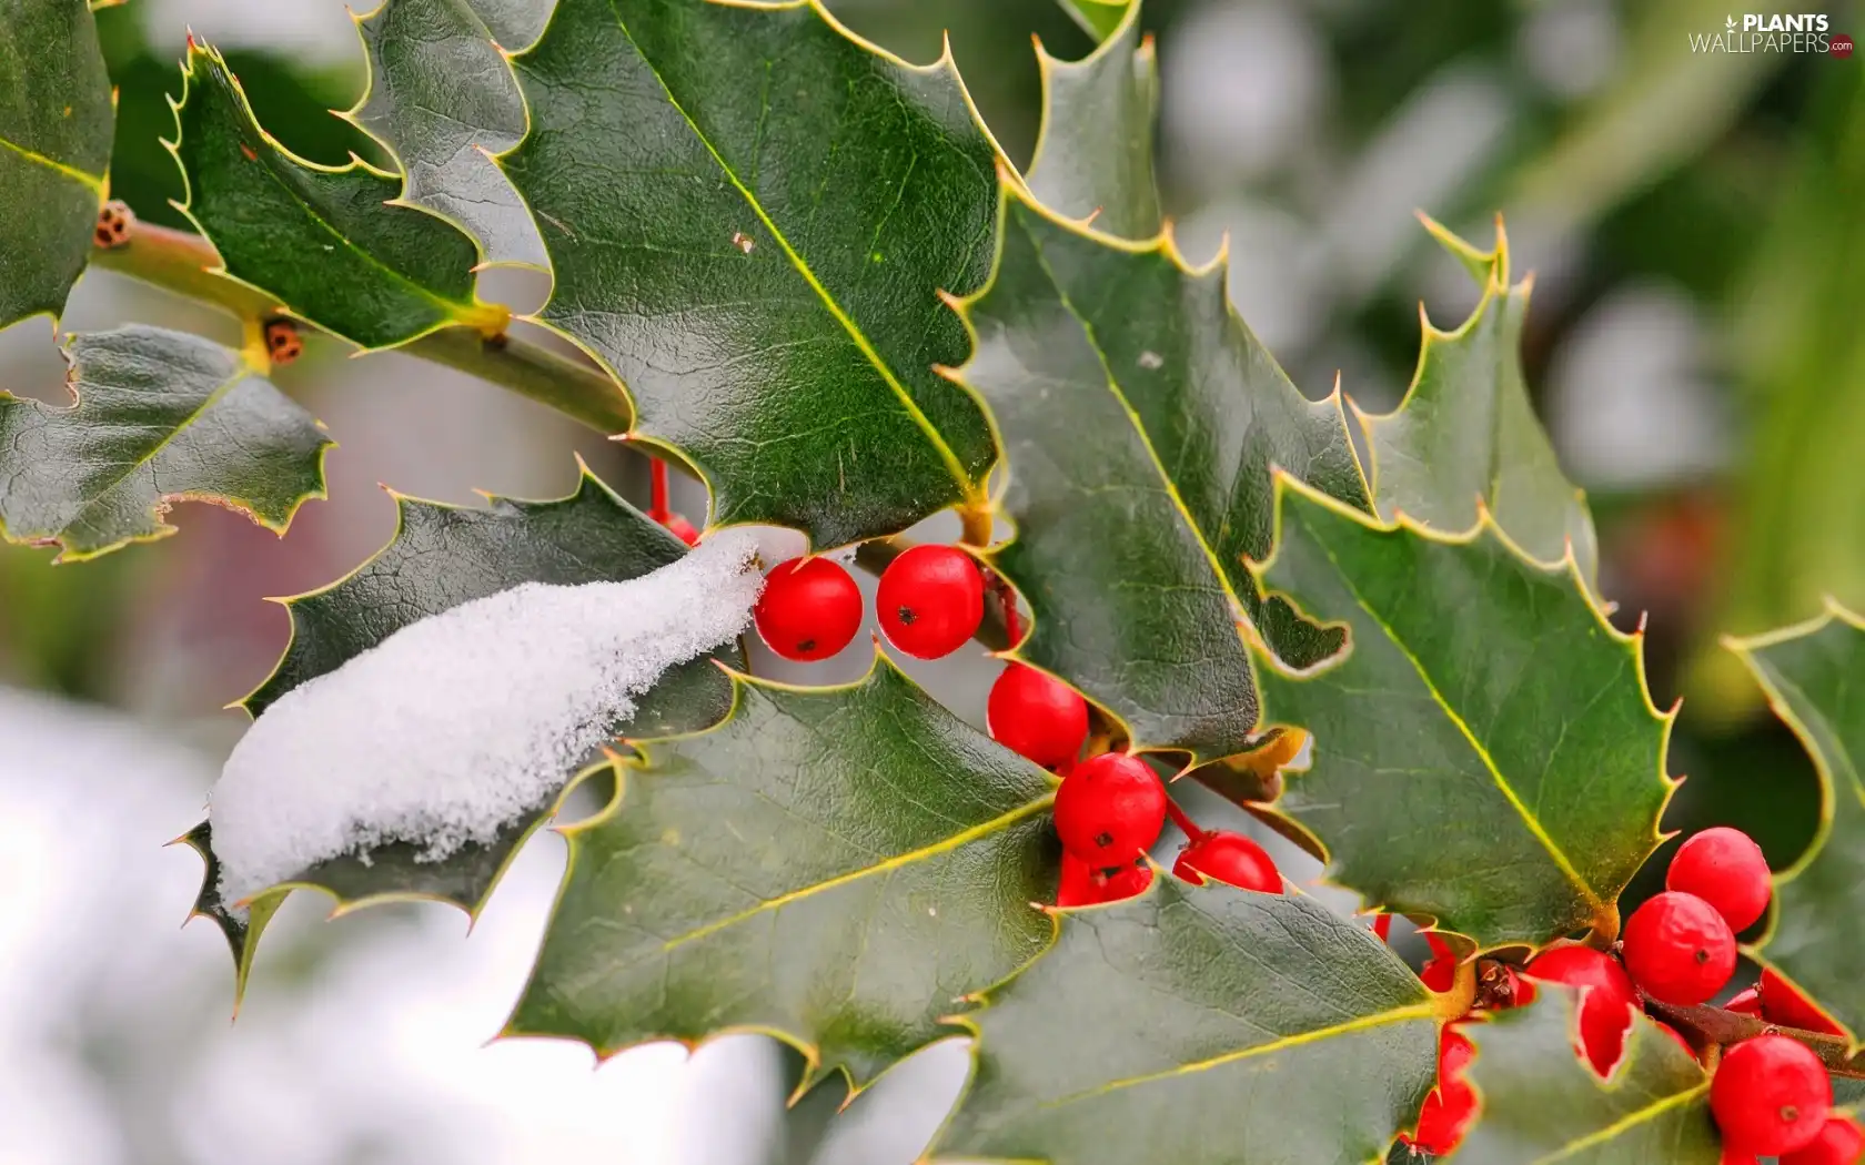
POLYGON ((1281 477, 1263 585, 1347 632, 1319 667, 1263 654, 1259 675, 1264 720, 1315 736, 1278 809, 1330 880, 1485 949, 1617 934, 1658 846, 1675 714, 1572 559, 1529 559, 1488 516, 1380 526, 1281 477))

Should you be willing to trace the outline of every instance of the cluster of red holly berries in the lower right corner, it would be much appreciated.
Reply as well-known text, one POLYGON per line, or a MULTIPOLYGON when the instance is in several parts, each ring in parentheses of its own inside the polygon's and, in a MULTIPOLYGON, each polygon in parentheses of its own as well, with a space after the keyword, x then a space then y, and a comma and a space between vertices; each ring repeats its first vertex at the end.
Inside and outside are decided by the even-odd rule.
MULTIPOLYGON (((1736 964, 1734 932, 1755 925, 1768 910, 1772 882, 1761 846, 1738 829, 1705 829, 1671 859, 1665 891, 1639 906, 1624 928, 1619 956, 1580 943, 1550 947, 1531 958, 1522 975, 1494 964, 1496 982, 1479 986, 1483 1007, 1466 1020, 1445 1023, 1438 1042, 1438 1085, 1425 1098, 1417 1131, 1406 1141, 1447 1154, 1475 1118, 1477 1098, 1464 1079, 1471 1044, 1458 1031, 1481 1021, 1485 1008, 1520 1007, 1535 997, 1535 982, 1583 988, 1580 1003, 1582 1055, 1602 1077, 1624 1051, 1634 1010, 1645 999, 1695 1007, 1729 984, 1736 964)), ((1382 919, 1384 921, 1384 919, 1382 919)), ((1384 934, 1384 930, 1382 930, 1384 934)), ((1432 958, 1419 977, 1434 992, 1449 992, 1457 954, 1434 934, 1432 958)), ((1761 986, 1734 995, 1727 1010, 1753 1014, 1805 1031, 1841 1035, 1800 992, 1774 971, 1761 986)), ((1692 1057, 1695 1049, 1675 1027, 1652 1020, 1692 1057)), ((1865 1130, 1833 1115, 1833 1089, 1820 1057, 1790 1036, 1762 1035, 1727 1048, 1714 1068, 1710 1113, 1723 1135, 1725 1165, 1779 1158, 1781 1165, 1856 1165, 1865 1158, 1865 1130)))

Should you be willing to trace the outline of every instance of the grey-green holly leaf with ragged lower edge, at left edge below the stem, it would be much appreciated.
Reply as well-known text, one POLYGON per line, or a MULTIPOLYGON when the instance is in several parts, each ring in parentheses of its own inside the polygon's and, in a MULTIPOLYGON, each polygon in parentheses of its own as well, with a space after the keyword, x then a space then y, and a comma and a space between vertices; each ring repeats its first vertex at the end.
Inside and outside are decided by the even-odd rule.
POLYGON ((73 563, 175 533, 213 501, 283 533, 334 444, 241 352, 131 324, 65 345, 71 404, 0 391, 0 533, 73 563))

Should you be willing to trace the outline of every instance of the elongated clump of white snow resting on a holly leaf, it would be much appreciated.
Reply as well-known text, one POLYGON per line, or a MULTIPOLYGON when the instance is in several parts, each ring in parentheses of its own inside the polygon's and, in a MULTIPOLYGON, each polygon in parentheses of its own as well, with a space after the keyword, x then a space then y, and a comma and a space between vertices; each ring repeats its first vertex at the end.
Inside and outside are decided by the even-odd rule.
MULTIPOLYGON (((412 623, 269 706, 209 794, 229 906, 386 841, 438 861, 539 809, 660 675, 739 636, 757 541, 623 583, 524 583, 412 623)), ((235 910, 242 915, 244 910, 235 910)))

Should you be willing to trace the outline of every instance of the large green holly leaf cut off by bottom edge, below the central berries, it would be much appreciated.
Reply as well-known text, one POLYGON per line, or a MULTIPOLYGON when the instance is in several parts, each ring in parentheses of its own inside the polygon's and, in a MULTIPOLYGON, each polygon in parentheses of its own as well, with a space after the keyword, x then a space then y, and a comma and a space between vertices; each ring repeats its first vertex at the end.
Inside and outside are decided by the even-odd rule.
POLYGON ((1373 1161, 1438 1066, 1436 1003, 1363 926, 1164 872, 1065 911, 987 1003, 964 1020, 977 1068, 938 1159, 1373 1161))

